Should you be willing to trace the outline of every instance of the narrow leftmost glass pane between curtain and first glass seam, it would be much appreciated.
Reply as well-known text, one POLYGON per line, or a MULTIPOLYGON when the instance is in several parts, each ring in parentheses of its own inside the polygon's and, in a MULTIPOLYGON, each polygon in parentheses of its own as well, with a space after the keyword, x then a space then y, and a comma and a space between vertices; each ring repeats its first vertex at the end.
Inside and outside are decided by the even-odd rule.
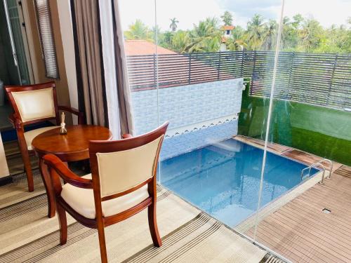
POLYGON ((157 81, 157 36, 154 0, 121 0, 129 83, 135 133, 147 133, 159 126, 157 81))

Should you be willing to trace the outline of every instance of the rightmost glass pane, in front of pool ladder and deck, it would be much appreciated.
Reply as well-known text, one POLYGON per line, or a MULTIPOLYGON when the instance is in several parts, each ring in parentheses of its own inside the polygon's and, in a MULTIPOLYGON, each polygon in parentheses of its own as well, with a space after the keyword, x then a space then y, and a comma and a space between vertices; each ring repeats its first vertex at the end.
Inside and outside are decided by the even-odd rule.
POLYGON ((267 159, 251 235, 291 262, 350 260, 343 246, 350 202, 341 201, 351 173, 350 8, 350 1, 286 0, 274 90, 262 73, 273 69, 269 55, 253 70, 247 104, 268 112, 272 93, 272 111, 268 135, 257 136, 267 138, 267 159))

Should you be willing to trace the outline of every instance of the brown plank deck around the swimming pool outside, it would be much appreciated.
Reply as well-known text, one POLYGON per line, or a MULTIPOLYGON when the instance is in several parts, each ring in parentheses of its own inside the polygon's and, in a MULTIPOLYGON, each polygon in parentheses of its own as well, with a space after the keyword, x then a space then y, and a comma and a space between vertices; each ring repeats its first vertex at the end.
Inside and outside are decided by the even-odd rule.
MULTIPOLYGON (((263 146, 259 140, 239 140, 263 146)), ((268 145, 270 151, 306 164, 322 160, 287 148, 268 145)), ((252 228, 246 234, 252 238, 253 232, 252 228)), ((293 262, 351 262, 351 168, 333 163, 331 179, 265 217, 258 224, 256 240, 293 262), (323 213, 324 208, 331 213, 323 213)))

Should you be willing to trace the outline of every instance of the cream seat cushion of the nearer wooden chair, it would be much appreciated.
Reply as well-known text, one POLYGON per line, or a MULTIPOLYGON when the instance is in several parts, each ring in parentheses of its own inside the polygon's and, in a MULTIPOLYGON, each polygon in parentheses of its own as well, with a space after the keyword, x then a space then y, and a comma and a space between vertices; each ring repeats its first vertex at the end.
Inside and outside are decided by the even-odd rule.
MULTIPOLYGON (((91 174, 84 175, 83 178, 91 179, 91 174)), ((62 186, 61 197, 77 213, 86 218, 95 219, 95 203, 93 189, 74 187, 72 184, 62 186)), ((102 202, 102 215, 108 217, 116 215, 134 205, 144 201, 149 197, 147 184, 140 189, 108 201, 102 202)))

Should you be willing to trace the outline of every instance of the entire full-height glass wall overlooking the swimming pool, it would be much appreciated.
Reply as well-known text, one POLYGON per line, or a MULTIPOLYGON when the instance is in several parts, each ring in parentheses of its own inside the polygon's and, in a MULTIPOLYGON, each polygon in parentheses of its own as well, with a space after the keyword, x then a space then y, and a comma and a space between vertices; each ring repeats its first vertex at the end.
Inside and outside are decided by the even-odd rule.
POLYGON ((273 254, 322 259, 346 217, 325 217, 345 208, 319 182, 331 161, 351 173, 349 5, 119 2, 136 133, 170 122, 161 187, 273 254))

